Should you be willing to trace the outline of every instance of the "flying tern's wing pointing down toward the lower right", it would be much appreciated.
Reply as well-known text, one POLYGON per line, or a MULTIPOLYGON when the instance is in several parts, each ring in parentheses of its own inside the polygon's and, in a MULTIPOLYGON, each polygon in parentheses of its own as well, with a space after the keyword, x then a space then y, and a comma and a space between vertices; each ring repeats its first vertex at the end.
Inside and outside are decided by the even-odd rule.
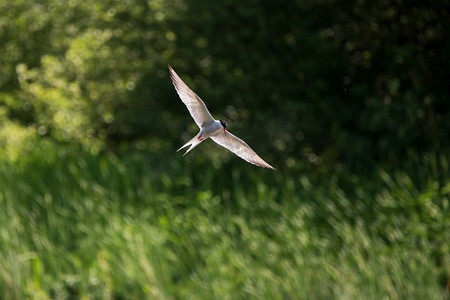
POLYGON ((266 163, 258 154, 255 153, 243 140, 231 134, 229 131, 219 133, 211 136, 211 139, 217 144, 227 148, 240 158, 248 161, 251 164, 276 170, 274 167, 266 163))

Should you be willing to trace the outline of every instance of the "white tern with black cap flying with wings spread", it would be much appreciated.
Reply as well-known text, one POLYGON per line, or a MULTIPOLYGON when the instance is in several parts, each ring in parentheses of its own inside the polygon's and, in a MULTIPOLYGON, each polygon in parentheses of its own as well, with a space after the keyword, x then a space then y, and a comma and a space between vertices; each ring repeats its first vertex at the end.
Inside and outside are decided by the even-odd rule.
POLYGON ((200 127, 200 132, 178 149, 177 152, 190 146, 186 153, 183 154, 184 156, 201 142, 211 138, 214 142, 227 148, 245 161, 259 167, 275 170, 274 167, 259 157, 243 140, 227 131, 226 121, 215 120, 203 100, 181 80, 180 76, 175 73, 170 65, 169 73, 178 96, 180 96, 181 101, 186 105, 195 123, 200 127))

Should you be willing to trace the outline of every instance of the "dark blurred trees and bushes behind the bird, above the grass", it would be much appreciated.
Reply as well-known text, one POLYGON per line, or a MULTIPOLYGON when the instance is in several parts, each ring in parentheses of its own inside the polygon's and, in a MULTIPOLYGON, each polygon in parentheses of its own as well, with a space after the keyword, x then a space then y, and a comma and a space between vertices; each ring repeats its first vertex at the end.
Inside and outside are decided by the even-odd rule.
POLYGON ((273 141, 258 150, 275 165, 448 150, 448 4, 3 1, 2 118, 88 147, 172 149, 195 127, 170 63, 250 145, 273 141))

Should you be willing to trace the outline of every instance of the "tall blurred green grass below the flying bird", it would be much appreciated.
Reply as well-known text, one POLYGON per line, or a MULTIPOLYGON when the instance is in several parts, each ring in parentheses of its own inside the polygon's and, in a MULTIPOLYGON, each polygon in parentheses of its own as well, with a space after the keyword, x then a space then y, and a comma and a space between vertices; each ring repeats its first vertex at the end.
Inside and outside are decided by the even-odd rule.
POLYGON ((448 298, 448 162, 313 176, 43 144, 0 160, 0 298, 448 298))

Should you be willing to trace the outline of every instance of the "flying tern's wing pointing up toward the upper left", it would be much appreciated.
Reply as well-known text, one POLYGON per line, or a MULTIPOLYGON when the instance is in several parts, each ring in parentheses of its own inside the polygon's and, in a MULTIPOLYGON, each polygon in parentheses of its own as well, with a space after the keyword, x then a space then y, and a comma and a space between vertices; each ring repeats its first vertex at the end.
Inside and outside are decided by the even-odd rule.
POLYGON ((211 116, 211 113, 208 111, 205 103, 194 93, 183 80, 181 80, 180 76, 175 73, 171 66, 169 66, 170 79, 172 79, 173 86, 180 96, 181 101, 186 105, 194 119, 195 123, 197 123, 198 127, 202 128, 205 125, 208 125, 214 122, 214 118, 211 116))

